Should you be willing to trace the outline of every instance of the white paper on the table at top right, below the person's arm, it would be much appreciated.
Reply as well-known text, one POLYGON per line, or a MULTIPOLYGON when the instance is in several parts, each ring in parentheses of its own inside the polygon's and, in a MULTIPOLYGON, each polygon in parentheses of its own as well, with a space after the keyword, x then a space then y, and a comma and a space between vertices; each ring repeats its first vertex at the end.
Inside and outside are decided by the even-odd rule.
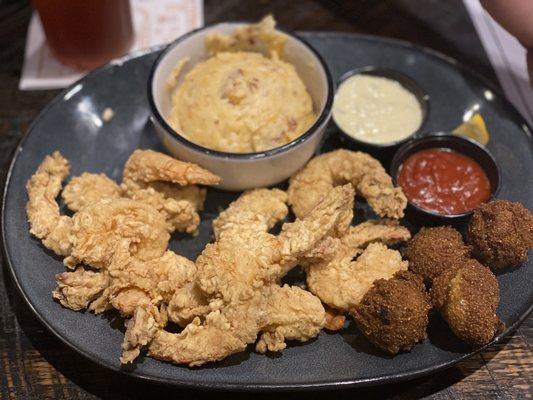
POLYGON ((478 0, 463 0, 483 48, 509 101, 533 125, 533 86, 526 49, 483 9, 478 0))

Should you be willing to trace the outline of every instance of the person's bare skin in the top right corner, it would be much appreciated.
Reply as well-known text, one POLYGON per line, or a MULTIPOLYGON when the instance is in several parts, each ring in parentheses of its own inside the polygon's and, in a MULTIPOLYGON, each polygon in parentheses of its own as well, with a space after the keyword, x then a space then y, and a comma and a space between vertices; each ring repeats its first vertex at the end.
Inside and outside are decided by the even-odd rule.
POLYGON ((480 0, 480 3, 526 48, 529 79, 533 83, 533 0, 480 0))

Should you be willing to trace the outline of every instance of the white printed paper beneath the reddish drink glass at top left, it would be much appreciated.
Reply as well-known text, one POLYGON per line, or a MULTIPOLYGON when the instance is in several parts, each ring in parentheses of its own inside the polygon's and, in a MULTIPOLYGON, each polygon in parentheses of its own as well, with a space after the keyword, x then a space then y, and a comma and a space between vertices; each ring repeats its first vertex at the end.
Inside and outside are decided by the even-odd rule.
MULTIPOLYGON (((203 0, 131 0, 137 51, 171 40, 204 23, 203 0)), ((57 89, 70 85, 86 72, 59 63, 51 54, 41 21, 34 13, 26 37, 24 66, 19 89, 57 89)))

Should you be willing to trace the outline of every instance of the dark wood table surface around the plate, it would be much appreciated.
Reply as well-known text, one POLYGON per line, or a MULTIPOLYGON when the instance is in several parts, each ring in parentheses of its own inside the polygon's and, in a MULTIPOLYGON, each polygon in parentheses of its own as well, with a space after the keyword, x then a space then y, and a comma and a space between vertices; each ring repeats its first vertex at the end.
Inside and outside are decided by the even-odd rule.
MULTIPOLYGON (((206 23, 256 20, 269 12, 286 29, 362 32, 432 47, 475 68, 497 84, 460 0, 205 0, 206 23)), ((27 1, 0 0, 2 182, 19 139, 37 113, 58 93, 53 90, 18 90, 30 16, 27 1)), ((6 268, 0 268, 0 399, 527 398, 533 396, 531 341, 533 316, 502 343, 448 370, 410 382, 283 395, 197 392, 139 382, 103 369, 78 355, 38 322, 14 287, 6 268)))

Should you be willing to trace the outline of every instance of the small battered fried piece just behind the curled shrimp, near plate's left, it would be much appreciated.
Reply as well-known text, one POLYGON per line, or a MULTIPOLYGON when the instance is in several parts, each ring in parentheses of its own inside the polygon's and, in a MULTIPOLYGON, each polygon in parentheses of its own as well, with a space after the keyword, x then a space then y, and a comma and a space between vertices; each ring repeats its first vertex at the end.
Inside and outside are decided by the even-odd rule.
POLYGON ((122 197, 120 187, 105 174, 82 173, 70 180, 61 193, 63 201, 72 211, 105 199, 122 197))

